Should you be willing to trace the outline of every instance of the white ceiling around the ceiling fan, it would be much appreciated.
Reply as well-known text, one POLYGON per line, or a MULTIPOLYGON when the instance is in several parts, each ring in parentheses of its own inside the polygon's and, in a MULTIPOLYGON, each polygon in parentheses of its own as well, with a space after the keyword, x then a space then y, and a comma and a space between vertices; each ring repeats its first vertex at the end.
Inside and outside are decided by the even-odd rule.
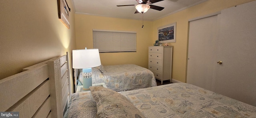
MULTIPOLYGON (((163 0, 156 2, 152 5, 164 7, 164 9, 162 11, 149 9, 148 12, 144 13, 144 20, 154 21, 204 1, 206 0, 163 0)), ((134 14, 135 6, 116 6, 138 4, 136 0, 72 0, 72 2, 76 13, 142 20, 141 13, 134 14)))

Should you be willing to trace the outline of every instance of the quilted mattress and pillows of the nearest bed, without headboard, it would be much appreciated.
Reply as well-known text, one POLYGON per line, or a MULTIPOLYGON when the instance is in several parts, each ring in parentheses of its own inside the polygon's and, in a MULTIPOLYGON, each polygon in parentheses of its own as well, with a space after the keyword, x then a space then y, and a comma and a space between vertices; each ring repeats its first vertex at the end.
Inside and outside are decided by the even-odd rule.
POLYGON ((66 118, 255 118, 256 107, 190 85, 173 83, 115 92, 104 87, 72 94, 66 118))

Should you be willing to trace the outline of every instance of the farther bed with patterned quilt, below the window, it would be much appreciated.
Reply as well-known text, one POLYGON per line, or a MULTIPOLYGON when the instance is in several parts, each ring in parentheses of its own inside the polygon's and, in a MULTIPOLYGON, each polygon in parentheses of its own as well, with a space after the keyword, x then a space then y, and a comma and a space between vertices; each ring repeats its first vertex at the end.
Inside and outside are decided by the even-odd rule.
MULTIPOLYGON (((80 73, 78 85, 82 83, 80 73)), ((92 84, 98 83, 105 83, 108 88, 115 91, 126 91, 155 87, 156 79, 152 71, 138 65, 100 65, 92 68, 92 84)))

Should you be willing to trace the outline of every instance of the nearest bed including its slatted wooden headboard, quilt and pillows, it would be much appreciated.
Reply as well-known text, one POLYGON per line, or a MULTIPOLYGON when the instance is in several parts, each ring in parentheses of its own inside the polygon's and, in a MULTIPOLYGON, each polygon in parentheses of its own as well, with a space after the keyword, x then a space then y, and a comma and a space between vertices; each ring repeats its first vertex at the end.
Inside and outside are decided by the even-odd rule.
POLYGON ((19 118, 256 118, 255 106, 186 83, 71 94, 67 57, 1 79, 0 111, 18 112, 19 118))

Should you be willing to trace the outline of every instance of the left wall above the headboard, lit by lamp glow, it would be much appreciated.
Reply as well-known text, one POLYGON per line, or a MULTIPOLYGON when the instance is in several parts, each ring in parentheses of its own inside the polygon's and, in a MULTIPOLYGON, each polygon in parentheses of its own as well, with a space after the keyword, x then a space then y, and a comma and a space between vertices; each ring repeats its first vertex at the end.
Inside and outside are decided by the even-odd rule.
POLYGON ((58 19, 57 0, 0 0, 0 79, 66 51, 71 60, 76 49, 74 8, 67 2, 70 29, 58 19))

